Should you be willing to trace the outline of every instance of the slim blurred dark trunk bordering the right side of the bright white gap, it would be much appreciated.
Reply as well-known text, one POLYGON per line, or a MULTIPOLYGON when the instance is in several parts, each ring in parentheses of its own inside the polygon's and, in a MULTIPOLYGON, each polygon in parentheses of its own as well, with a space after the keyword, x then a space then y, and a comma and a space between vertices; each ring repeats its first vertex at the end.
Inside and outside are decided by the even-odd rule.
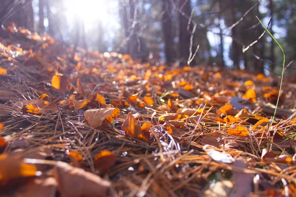
MULTIPOLYGON (((234 10, 234 0, 230 0, 230 14, 231 14, 231 23, 234 24, 236 22, 235 19, 235 10, 234 10)), ((231 30, 231 36, 234 38, 236 35, 236 27, 233 27, 231 30)), ((232 39, 232 60, 233 60, 233 68, 239 69, 239 46, 235 40, 232 39)))

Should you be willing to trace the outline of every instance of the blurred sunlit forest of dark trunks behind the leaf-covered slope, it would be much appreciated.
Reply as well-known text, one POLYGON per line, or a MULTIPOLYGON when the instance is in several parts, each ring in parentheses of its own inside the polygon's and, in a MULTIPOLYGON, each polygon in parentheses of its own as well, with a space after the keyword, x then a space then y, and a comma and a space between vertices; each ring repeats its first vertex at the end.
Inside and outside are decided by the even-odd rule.
MULTIPOLYGON (((0 3, 2 24, 13 21, 17 27, 46 32, 75 48, 114 51, 153 64, 163 61, 181 66, 188 63, 190 56, 194 57, 190 65, 227 66, 277 75, 281 72, 282 52, 268 33, 260 36, 264 29, 258 16, 283 46, 287 63, 296 57, 294 0, 0 0, 0 3)), ((292 62, 288 69, 295 66, 292 62)))

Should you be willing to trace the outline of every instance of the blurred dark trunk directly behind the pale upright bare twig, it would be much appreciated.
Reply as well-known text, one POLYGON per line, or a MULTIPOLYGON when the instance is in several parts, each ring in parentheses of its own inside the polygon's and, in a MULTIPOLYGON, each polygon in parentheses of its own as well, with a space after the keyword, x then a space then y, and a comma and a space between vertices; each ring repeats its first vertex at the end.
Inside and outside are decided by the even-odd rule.
MULTIPOLYGON (((190 48, 190 33, 187 31, 188 18, 191 14, 191 5, 190 0, 180 0, 179 7, 182 8, 179 13, 179 53, 181 64, 186 64, 189 57, 189 48, 190 48), (187 16, 187 17, 186 17, 187 16)), ((191 28, 189 28, 190 31, 191 28)), ((192 53, 194 49, 192 47, 192 53)), ((194 60, 192 61, 194 64, 194 60)))

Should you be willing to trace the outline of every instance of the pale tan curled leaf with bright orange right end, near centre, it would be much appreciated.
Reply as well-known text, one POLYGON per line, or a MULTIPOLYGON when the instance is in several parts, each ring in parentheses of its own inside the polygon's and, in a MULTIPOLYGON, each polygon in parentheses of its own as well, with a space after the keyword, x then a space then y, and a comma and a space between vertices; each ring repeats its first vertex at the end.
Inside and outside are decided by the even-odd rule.
POLYGON ((101 126, 104 120, 112 123, 118 115, 119 108, 88 109, 84 112, 88 124, 94 128, 101 126))

